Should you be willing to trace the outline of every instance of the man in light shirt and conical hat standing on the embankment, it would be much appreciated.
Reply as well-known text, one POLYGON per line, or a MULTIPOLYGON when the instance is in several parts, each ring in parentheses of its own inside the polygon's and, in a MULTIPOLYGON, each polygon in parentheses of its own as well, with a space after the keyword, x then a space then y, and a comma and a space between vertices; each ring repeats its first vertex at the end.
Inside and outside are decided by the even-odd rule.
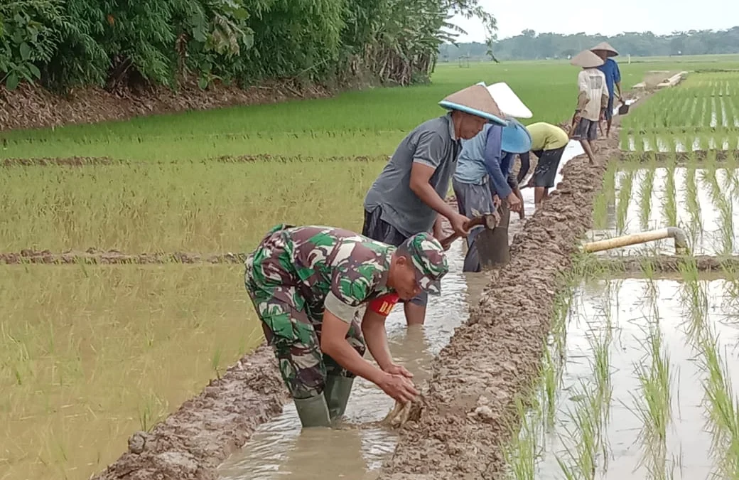
POLYGON ((598 124, 605 120, 605 109, 608 106, 606 78, 598 70, 603 63, 603 59, 590 50, 579 53, 571 61, 571 64, 582 67, 577 74, 579 93, 571 138, 580 141, 590 163, 595 163, 593 141, 598 138, 598 124))

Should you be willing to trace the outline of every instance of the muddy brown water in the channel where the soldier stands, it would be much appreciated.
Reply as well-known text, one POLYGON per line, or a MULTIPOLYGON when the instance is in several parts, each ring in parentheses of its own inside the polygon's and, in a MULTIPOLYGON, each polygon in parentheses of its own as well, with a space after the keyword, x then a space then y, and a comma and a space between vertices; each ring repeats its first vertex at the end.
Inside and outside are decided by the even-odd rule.
MULTIPOLYGON (((429 297, 426 324, 407 328, 401 305, 386 322, 389 347, 398 363, 411 371, 416 382, 429 377, 430 364, 449 342, 454 328, 466 321, 469 302, 475 301, 486 278, 463 274, 462 241, 449 250, 449 274, 440 297, 429 297)), ((366 354, 365 358, 371 360, 366 354)), ((254 433, 251 440, 219 467, 222 480, 349 479, 368 480, 395 450, 397 436, 381 428, 357 428, 386 416, 394 401, 364 379, 355 380, 346 411, 345 429, 301 430, 292 402, 281 415, 254 433)))

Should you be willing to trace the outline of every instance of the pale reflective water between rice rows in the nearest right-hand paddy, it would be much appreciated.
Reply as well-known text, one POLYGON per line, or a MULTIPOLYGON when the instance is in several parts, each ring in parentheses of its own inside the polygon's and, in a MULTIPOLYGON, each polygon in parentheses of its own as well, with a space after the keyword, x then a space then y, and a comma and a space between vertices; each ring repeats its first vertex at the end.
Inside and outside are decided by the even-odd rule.
MULTIPOLYGON (((724 280, 701 283, 709 302, 706 323, 715 328, 717 350, 728 363, 727 381, 737 388, 737 299, 729 294, 729 283, 724 280)), ((605 427, 606 455, 597 460, 596 478, 652 478, 641 464, 646 454, 639 439, 644 422, 635 413, 636 398, 643 397, 635 371, 637 365, 647 368, 650 365, 649 350, 644 344, 650 323, 657 325, 664 335, 663 348, 669 355, 674 375, 670 388, 672 422, 667 427, 664 470, 672 472, 675 479, 706 479, 715 469, 711 436, 706 431, 707 417, 701 404, 704 399, 701 382, 707 373, 695 362, 698 353, 690 345, 686 328, 689 307, 682 301, 682 283, 658 280, 654 285, 650 289, 647 280, 610 280, 583 285, 576 292, 568 319, 562 384, 556 393, 556 421, 554 427, 545 431, 545 454, 537 464, 537 478, 564 478, 558 458, 571 464, 566 445, 571 444, 573 433, 576 438, 577 430, 568 412, 575 411, 576 388, 580 382, 594 384, 590 339, 607 332, 612 335, 608 351, 613 396, 610 420, 605 427)))

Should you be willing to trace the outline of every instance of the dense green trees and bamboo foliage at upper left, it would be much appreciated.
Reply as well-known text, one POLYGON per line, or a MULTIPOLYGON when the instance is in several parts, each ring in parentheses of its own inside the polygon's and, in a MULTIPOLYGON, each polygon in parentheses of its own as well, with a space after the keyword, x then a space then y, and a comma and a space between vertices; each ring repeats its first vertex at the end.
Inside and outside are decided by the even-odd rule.
POLYGON ((328 81, 369 70, 425 81, 452 13, 494 19, 477 0, 4 0, 0 79, 64 89, 205 88, 214 79, 328 81))

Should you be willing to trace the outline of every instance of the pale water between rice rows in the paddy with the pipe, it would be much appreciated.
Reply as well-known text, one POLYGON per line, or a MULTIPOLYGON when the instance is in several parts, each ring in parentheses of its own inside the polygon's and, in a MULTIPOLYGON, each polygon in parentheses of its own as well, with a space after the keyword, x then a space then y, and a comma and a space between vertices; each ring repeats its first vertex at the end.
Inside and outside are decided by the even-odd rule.
MULTIPOLYGON (((616 223, 616 214, 619 212, 619 192, 624 188, 624 178, 627 172, 616 172, 616 204, 607 209, 607 228, 591 231, 589 237, 599 240, 606 237, 617 237, 621 234, 634 234, 641 231, 661 229, 667 226, 678 226, 684 229, 689 237, 689 244, 693 254, 739 254, 739 242, 735 239, 739 234, 739 188, 736 183, 739 178, 737 169, 716 169, 718 181, 718 195, 726 200, 731 207, 729 214, 722 214, 712 197, 713 187, 705 178, 709 175, 706 169, 695 170, 695 185, 697 187, 696 200, 697 214, 692 215, 689 207, 689 192, 687 190, 687 175, 689 169, 675 167, 675 193, 667 190, 667 175, 670 171, 664 167, 650 169, 636 169, 633 172, 631 195, 627 198, 626 217, 623 231, 619 231, 616 223), (654 172, 653 185, 648 187, 647 174, 654 172), (646 188, 645 188, 646 186, 646 188), (668 220, 667 209, 669 196, 675 200, 677 225, 668 220), (698 221, 699 220, 699 221, 698 221), (691 232, 695 232, 692 234, 691 232), (728 234, 731 232, 731 234, 728 234)), ((670 239, 657 242, 643 243, 623 247, 599 254, 674 254, 674 243, 670 239)))

